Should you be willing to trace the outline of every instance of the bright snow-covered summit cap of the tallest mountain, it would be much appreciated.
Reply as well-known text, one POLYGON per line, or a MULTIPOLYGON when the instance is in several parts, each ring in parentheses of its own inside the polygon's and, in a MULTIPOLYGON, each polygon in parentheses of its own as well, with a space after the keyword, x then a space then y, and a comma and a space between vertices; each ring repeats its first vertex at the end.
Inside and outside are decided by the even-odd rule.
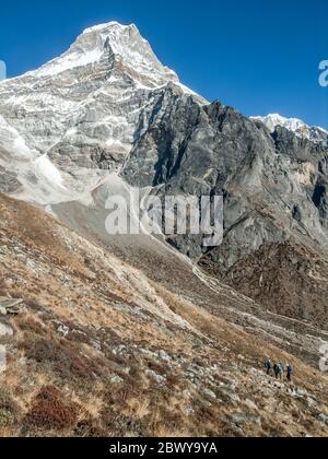
POLYGON ((121 72, 144 87, 160 87, 169 82, 179 84, 177 74, 160 62, 138 27, 117 22, 84 30, 63 55, 30 75, 60 76, 66 71, 86 66, 107 69, 108 72, 119 67, 121 72))

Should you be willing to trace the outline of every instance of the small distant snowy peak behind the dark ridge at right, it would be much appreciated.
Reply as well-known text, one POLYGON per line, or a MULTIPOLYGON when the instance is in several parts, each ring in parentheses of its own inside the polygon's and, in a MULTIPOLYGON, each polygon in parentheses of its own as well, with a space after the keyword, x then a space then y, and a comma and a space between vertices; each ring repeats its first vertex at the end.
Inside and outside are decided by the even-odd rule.
POLYGON ((309 127, 297 118, 284 118, 279 114, 271 114, 266 117, 251 117, 250 119, 263 122, 271 132, 278 126, 281 126, 303 139, 308 139, 316 143, 327 142, 328 131, 318 127, 309 127))

